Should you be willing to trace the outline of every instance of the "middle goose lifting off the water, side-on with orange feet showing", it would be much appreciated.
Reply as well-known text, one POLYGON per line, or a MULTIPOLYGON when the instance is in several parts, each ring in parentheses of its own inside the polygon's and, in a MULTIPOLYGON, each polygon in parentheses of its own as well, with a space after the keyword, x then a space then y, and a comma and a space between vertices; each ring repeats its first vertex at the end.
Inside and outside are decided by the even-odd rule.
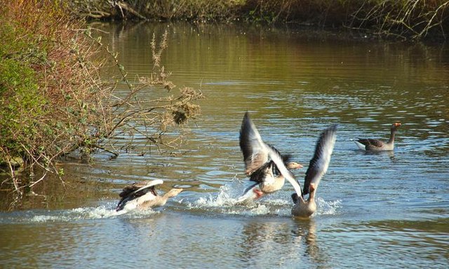
POLYGON ((262 141, 259 131, 251 121, 248 112, 243 117, 240 130, 240 148, 245 162, 245 173, 250 181, 255 182, 237 198, 237 202, 258 199, 267 193, 280 190, 285 183, 285 176, 279 171, 273 156, 283 163, 287 169, 300 169, 301 164, 288 162, 290 155, 281 155, 272 145, 262 141))

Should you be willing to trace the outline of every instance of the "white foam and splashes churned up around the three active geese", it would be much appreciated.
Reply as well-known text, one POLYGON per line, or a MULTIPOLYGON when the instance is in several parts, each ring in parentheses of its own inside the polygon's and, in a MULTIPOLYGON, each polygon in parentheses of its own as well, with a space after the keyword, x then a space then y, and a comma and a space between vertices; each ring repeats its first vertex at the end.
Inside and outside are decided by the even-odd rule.
MULTIPOLYGON (((205 197, 189 202, 185 199, 173 201, 185 205, 187 210, 203 210, 209 212, 217 212, 219 214, 241 215, 241 216, 259 216, 259 215, 277 215, 290 216, 293 206, 285 192, 276 192, 267 195, 262 199, 257 199, 246 204, 237 204, 237 199, 245 190, 244 183, 234 178, 234 181, 220 187, 216 194, 208 194, 205 197)), ((321 197, 316 199, 317 211, 316 215, 336 215, 339 214, 341 201, 326 201, 321 197)), ((57 221, 77 221, 88 219, 102 218, 147 218, 154 214, 160 214, 157 209, 133 210, 133 211, 115 211, 115 203, 108 202, 97 207, 80 207, 63 211, 46 211, 36 213, 26 220, 21 219, 20 222, 46 223, 57 221)))

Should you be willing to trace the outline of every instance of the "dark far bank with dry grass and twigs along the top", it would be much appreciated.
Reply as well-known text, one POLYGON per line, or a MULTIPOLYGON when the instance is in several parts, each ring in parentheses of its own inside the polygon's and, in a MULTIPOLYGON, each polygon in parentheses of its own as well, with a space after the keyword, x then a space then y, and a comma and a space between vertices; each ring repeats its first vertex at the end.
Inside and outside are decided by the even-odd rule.
POLYGON ((400 39, 447 39, 447 0, 102 0, 71 2, 83 18, 288 23, 337 27, 400 39))

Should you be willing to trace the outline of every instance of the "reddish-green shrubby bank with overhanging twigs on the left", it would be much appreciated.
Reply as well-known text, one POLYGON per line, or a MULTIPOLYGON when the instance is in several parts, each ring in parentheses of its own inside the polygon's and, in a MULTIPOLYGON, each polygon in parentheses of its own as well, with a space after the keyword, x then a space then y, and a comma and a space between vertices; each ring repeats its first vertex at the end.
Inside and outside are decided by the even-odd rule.
POLYGON ((177 147, 177 136, 169 140, 166 134, 199 114, 194 101, 201 93, 192 88, 174 92, 175 85, 160 63, 167 37, 156 39, 149 44, 154 60, 151 78, 142 78, 135 86, 128 83, 116 54, 92 29, 72 19, 64 1, 3 3, 0 173, 10 180, 0 181, 1 189, 32 187, 48 173, 63 176, 55 162, 69 154, 87 161, 98 150, 119 155, 114 139, 122 133, 133 136, 135 126, 142 126, 139 136, 146 141, 139 154, 152 146, 177 147), (115 80, 100 79, 105 64, 116 67, 115 80), (121 98, 114 95, 119 81, 128 87, 128 95, 121 98), (157 88, 167 96, 145 102, 138 97, 141 91, 157 88))

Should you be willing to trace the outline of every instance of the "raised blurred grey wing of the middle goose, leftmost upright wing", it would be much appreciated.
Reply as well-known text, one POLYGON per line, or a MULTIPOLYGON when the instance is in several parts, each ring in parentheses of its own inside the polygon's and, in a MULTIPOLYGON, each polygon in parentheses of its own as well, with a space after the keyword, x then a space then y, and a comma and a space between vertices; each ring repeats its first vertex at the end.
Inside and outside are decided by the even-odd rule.
POLYGON ((245 173, 250 176, 268 162, 267 144, 260 136, 248 112, 243 116, 240 129, 240 148, 245 162, 245 173))

